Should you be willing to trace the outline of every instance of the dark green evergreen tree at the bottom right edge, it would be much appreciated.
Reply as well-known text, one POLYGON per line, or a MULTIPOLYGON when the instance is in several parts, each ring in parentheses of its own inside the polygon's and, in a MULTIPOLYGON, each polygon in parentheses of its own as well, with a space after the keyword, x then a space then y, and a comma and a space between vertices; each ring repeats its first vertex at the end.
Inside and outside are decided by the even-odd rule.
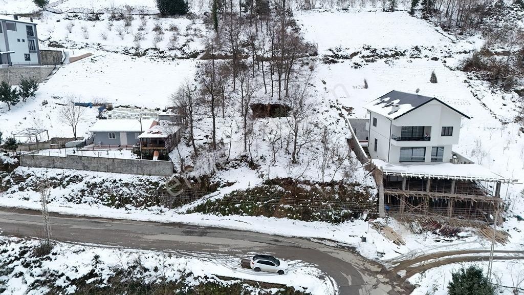
POLYGON ((495 295, 495 288, 477 266, 463 267, 451 274, 448 295, 495 295))

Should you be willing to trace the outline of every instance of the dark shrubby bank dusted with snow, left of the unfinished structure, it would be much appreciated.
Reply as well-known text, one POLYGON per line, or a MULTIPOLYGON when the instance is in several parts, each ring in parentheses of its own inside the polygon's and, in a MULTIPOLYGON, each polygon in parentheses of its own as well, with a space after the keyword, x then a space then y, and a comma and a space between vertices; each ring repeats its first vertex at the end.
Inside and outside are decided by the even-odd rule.
POLYGON ((369 212, 376 212, 376 199, 370 191, 371 187, 359 183, 274 179, 260 186, 234 191, 220 199, 208 200, 189 212, 343 223, 361 217, 366 208, 369 212), (358 204, 358 210, 349 204, 358 204))

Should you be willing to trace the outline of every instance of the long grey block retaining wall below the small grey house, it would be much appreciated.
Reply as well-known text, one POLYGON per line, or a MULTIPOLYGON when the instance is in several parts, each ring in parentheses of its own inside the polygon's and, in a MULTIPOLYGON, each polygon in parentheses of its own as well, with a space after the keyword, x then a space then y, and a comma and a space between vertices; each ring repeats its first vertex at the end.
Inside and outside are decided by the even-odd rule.
POLYGON ((23 154, 20 156, 20 166, 167 177, 173 174, 173 163, 171 161, 113 159, 81 155, 59 157, 23 154))

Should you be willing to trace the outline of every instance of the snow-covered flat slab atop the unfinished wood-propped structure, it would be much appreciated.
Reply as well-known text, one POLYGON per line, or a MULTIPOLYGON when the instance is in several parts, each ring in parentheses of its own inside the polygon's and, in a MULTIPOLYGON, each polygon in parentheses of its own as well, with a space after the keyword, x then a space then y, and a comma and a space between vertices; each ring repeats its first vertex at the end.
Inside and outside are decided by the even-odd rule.
POLYGON ((385 175, 431 177, 442 179, 491 181, 517 183, 501 176, 488 168, 478 164, 453 164, 453 163, 409 163, 391 164, 383 160, 372 160, 385 175))

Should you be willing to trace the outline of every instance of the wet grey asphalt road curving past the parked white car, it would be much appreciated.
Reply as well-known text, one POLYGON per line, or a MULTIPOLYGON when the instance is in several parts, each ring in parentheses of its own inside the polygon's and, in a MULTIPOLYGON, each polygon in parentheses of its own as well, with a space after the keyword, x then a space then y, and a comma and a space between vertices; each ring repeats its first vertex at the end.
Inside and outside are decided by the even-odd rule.
MULTIPOLYGON (((273 253, 299 259, 328 273, 344 295, 409 294, 412 287, 377 262, 352 249, 325 241, 289 238, 250 231, 51 214, 54 240, 146 250, 216 254, 273 253)), ((0 208, 0 231, 18 237, 41 236, 42 217, 34 210, 0 208)))

